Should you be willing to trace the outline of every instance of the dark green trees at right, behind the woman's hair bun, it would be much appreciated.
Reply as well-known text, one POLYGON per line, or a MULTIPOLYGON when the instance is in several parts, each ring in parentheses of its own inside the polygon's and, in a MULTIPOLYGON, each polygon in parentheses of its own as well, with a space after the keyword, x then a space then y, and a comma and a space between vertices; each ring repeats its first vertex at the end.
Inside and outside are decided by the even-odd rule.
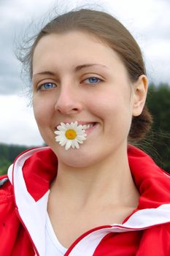
POLYGON ((152 131, 144 141, 147 152, 158 165, 170 172, 170 86, 166 83, 150 84, 147 106, 153 118, 152 131))

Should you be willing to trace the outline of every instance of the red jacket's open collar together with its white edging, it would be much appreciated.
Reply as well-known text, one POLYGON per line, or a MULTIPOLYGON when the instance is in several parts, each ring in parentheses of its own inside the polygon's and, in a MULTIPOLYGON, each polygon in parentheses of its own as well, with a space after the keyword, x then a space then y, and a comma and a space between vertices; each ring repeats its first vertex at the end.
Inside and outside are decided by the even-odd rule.
MULTIPOLYGON (((87 244, 93 255, 96 245, 110 232, 142 230, 170 222, 170 176, 163 172, 143 151, 128 146, 128 161, 136 187, 139 206, 122 225, 107 225, 89 230, 74 242, 67 255, 80 255, 87 244), (91 242, 91 245, 89 244, 91 242)), ((28 230, 39 255, 45 255, 45 221, 50 183, 57 175, 58 161, 48 147, 34 148, 21 154, 9 168, 15 204, 20 221, 28 230), (41 216, 41 218, 40 218, 41 216), (36 226, 35 226, 36 223, 36 226)))

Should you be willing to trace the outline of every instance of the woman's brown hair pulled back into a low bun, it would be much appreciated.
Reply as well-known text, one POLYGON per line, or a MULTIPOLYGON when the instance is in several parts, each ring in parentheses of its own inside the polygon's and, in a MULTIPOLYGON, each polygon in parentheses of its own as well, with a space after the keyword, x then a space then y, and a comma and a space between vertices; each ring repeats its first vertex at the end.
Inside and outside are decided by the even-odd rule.
MULTIPOLYGON (((139 45, 123 24, 106 12, 81 9, 66 12, 53 18, 36 36, 28 54, 21 60, 23 64, 28 65, 30 78, 32 76, 34 49, 39 40, 48 34, 63 34, 75 30, 93 34, 115 50, 125 64, 131 82, 138 80, 140 75, 146 74, 139 45)), ((144 106, 141 115, 132 118, 128 139, 130 141, 141 140, 145 137, 151 124, 152 117, 147 107, 144 106)))

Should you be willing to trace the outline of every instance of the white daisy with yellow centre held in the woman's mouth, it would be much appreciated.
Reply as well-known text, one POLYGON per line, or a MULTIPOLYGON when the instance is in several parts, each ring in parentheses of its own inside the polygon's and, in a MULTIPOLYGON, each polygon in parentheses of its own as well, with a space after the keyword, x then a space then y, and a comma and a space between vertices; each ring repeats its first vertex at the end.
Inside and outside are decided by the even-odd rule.
POLYGON ((65 146, 65 149, 69 148, 80 148, 79 144, 82 144, 86 140, 87 134, 85 133, 85 127, 78 125, 77 121, 72 122, 71 124, 61 123, 57 127, 54 133, 55 141, 57 141, 61 146, 65 146))

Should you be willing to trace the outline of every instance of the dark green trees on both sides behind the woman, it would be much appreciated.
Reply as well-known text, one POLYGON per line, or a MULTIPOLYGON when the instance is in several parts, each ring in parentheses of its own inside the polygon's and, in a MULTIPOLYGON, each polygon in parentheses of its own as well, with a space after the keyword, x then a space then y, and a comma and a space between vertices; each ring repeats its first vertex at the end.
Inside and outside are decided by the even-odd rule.
MULTIPOLYGON (((150 154, 160 167, 170 173, 170 86, 168 83, 161 83, 158 86, 150 84, 147 107, 153 118, 152 130, 147 138, 136 146, 150 154)), ((7 168, 15 157, 26 149, 26 146, 0 143, 0 175, 7 173, 7 168)))

